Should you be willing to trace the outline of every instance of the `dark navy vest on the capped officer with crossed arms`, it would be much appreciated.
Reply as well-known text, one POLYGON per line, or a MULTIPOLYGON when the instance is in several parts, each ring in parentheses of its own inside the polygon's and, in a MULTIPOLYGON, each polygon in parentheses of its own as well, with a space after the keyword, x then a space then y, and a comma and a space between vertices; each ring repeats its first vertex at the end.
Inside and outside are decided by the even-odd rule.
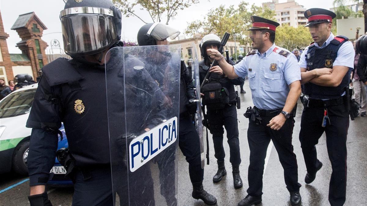
MULTIPOLYGON (((337 36, 324 48, 317 48, 311 44, 306 56, 307 69, 309 71, 318 68, 333 68, 333 62, 337 58, 338 50, 344 43, 348 42, 345 36, 337 36)), ((311 82, 305 84, 305 95, 312 99, 338 99, 344 93, 345 87, 349 85, 350 72, 348 71, 338 87, 323 87, 311 82)))

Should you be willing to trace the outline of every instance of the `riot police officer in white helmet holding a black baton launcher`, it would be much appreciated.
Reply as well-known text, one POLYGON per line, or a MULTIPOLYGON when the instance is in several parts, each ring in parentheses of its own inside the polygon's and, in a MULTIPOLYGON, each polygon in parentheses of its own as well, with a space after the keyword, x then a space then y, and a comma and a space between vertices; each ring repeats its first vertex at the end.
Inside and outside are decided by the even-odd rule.
MULTIPOLYGON (((199 47, 201 56, 203 56, 204 60, 199 62, 200 84, 202 84, 204 81, 206 73, 213 62, 213 59, 207 55, 207 49, 218 50, 220 43, 221 40, 215 34, 207 34, 201 39, 199 47)), ((232 60, 230 60, 230 64, 235 65, 232 60)), ((207 126, 208 129, 210 129, 210 133, 213 135, 215 158, 217 158, 218 163, 218 171, 213 177, 213 182, 217 183, 221 181, 222 177, 227 174, 224 166, 224 126, 227 131, 227 139, 229 144, 229 161, 232 163, 233 185, 235 188, 241 188, 243 184, 239 170, 241 157, 236 110, 237 93, 235 91, 234 85, 240 85, 243 82, 243 78, 239 77, 230 80, 225 76, 221 67, 219 66, 214 66, 211 71, 212 73, 210 74, 209 81, 203 86, 201 93, 204 94, 203 105, 207 107, 207 126), (221 102, 218 101, 218 99, 216 100, 215 97, 221 98, 219 95, 211 96, 214 94, 212 93, 214 90, 212 90, 213 87, 211 85, 218 85, 219 87, 216 89, 224 91, 221 96, 226 96, 226 101, 221 102)))

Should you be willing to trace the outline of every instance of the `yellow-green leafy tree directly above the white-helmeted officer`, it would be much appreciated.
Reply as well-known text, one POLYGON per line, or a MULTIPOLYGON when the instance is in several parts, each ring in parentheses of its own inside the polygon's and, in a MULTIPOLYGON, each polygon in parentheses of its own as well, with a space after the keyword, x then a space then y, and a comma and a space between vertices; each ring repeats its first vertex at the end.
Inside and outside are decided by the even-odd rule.
MULTIPOLYGON (((236 39, 241 44, 246 44, 250 42, 250 39, 247 37, 248 32, 246 28, 251 27, 250 17, 252 15, 275 20, 275 12, 269 8, 266 7, 263 9, 253 4, 248 9, 248 6, 249 4, 247 2, 242 1, 237 9, 235 9, 234 5, 230 5, 228 8, 225 8, 225 5, 212 8, 204 16, 203 20, 190 22, 185 33, 189 35, 195 33, 203 35, 215 33, 220 36, 228 32, 236 34, 236 39)), ((233 35, 230 38, 233 39, 233 35)))

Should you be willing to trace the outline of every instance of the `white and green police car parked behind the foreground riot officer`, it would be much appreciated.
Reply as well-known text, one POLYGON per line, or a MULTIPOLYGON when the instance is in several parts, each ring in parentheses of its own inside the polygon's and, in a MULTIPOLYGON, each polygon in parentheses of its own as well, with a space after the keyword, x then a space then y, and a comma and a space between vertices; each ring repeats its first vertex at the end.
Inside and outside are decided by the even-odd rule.
MULTIPOLYGON (((27 157, 29 139, 32 129, 25 124, 32 107, 34 94, 38 84, 29 85, 18 89, 0 100, 0 174, 14 171, 21 175, 28 175, 27 157)), ((58 149, 68 147, 65 129, 60 128, 63 140, 58 143, 58 149)), ((65 178, 66 170, 55 159, 51 169, 54 173, 50 185, 72 185, 70 179, 65 178)))

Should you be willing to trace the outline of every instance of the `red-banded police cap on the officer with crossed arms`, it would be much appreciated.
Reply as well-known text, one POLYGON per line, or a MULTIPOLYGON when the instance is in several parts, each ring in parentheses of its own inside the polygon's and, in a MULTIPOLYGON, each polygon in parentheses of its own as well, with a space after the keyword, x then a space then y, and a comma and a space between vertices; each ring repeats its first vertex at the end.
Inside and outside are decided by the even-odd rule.
POLYGON ((334 12, 323 8, 310 8, 304 15, 308 19, 306 26, 323 22, 333 23, 333 19, 337 16, 334 12))

